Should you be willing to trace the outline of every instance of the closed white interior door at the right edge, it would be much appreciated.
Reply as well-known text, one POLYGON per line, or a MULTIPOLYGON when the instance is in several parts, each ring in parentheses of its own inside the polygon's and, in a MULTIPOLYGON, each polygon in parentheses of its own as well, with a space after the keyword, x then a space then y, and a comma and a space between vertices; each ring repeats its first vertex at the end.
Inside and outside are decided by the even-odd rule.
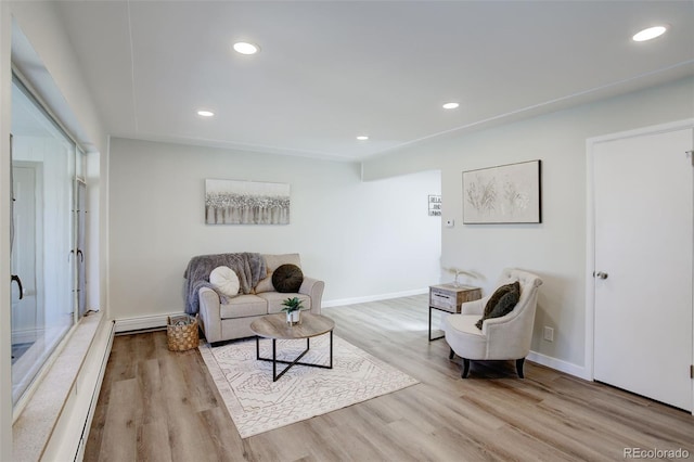
POLYGON ((594 377, 690 411, 692 143, 685 129, 593 151, 594 377))

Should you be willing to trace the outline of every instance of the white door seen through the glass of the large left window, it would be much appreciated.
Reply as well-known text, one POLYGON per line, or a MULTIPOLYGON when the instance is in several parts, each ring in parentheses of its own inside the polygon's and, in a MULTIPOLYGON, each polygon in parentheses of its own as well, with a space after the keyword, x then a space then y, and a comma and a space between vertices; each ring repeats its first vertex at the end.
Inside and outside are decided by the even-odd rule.
POLYGON ((12 248, 12 274, 20 277, 20 287, 12 284, 12 345, 36 341, 37 287, 36 287, 36 169, 12 168, 14 193, 14 242, 12 248))

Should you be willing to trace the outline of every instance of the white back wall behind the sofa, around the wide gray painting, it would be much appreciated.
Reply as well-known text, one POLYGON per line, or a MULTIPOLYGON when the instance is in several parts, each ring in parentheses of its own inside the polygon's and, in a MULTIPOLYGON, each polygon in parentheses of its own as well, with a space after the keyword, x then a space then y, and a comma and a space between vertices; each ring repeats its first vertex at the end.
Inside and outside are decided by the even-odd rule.
POLYGON ((301 157, 112 139, 110 307, 115 319, 183 310, 194 255, 301 255, 324 301, 423 290, 439 282, 437 171, 362 182, 360 166, 301 157), (205 179, 291 184, 291 224, 205 224, 205 179))

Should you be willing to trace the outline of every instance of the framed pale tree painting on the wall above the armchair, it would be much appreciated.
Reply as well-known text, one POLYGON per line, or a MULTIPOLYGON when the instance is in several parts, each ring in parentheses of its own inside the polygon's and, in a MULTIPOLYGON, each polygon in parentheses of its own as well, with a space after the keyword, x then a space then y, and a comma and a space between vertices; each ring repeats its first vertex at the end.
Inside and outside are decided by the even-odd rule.
POLYGON ((541 223, 541 161, 463 171, 463 223, 541 223))

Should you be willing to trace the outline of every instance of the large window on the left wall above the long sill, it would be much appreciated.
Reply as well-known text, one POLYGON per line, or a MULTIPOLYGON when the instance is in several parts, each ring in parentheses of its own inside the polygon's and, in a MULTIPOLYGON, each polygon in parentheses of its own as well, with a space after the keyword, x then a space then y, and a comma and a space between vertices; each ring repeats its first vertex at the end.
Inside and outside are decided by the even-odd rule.
POLYGON ((76 321, 76 150, 12 84, 12 400, 16 406, 76 321))

